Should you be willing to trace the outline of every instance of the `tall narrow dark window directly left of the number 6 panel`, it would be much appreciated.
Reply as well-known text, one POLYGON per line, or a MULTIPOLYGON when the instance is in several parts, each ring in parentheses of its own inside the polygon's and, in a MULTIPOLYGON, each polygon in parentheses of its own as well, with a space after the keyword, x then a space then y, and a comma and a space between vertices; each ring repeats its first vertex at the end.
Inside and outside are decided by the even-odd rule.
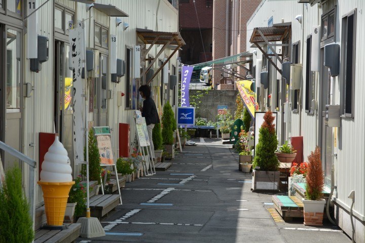
POLYGON ((312 35, 307 37, 307 58, 306 58, 306 79, 305 79, 305 112, 313 113, 314 107, 312 107, 312 100, 314 99, 314 72, 311 71, 311 58, 312 58, 312 35))

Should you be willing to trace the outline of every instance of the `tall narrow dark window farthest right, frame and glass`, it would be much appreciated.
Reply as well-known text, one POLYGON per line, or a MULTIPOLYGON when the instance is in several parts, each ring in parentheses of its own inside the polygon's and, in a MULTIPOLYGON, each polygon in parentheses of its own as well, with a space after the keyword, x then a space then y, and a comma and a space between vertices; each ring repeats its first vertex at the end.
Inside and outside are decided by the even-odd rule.
POLYGON ((354 116, 356 9, 342 18, 341 106, 343 115, 354 116))

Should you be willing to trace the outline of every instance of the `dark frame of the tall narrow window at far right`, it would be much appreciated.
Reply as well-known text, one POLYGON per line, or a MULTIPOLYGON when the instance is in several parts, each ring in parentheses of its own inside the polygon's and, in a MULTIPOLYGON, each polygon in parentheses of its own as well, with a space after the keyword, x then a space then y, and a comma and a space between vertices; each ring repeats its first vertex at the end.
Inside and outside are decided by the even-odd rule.
POLYGON ((347 13, 346 15, 342 16, 342 30, 341 30, 341 116, 342 117, 350 117, 354 118, 354 90, 355 90, 355 60, 356 60, 356 11, 354 9, 347 13), (353 16, 353 26, 352 26, 352 45, 347 45, 348 39, 348 18, 353 16), (351 97, 349 98, 346 94, 346 86, 348 82, 348 75, 347 67, 348 64, 348 55, 347 51, 349 48, 352 48, 352 63, 351 63, 351 97), (346 104, 351 103, 351 110, 350 112, 346 108, 346 104))

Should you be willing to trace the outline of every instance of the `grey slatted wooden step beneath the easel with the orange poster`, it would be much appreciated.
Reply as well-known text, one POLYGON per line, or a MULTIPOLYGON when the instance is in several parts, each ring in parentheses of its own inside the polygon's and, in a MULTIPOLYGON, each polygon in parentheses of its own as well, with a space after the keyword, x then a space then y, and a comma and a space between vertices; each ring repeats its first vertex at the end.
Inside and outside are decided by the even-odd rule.
POLYGON ((90 198, 91 217, 99 220, 119 205, 119 194, 95 195, 90 198))

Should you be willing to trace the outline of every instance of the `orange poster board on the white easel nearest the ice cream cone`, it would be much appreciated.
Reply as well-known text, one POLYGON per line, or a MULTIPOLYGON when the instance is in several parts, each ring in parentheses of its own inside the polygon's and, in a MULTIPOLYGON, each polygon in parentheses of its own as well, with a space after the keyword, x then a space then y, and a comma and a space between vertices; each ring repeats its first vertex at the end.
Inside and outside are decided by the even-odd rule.
POLYGON ((100 154, 100 163, 102 165, 114 165, 110 128, 94 127, 93 129, 100 154))

